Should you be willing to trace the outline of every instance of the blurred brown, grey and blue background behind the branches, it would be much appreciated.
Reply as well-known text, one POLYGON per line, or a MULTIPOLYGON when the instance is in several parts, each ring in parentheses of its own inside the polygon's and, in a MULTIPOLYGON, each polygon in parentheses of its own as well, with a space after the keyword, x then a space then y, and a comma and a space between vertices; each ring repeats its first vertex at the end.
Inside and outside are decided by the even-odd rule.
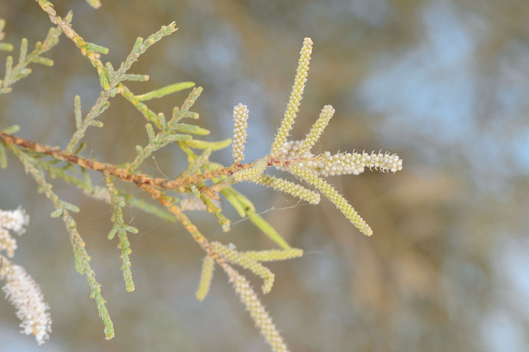
MULTIPOLYGON (((102 3, 94 10, 81 0, 53 2, 62 16, 74 11, 72 24, 85 40, 110 49, 102 60, 115 68, 137 36, 176 21, 179 30, 129 71, 150 80, 127 86, 136 94, 188 80, 204 87, 194 111, 212 131, 207 140, 231 136, 233 106, 243 103, 250 109, 246 160, 267 153, 309 36, 314 49, 293 138, 301 139, 332 104, 336 113, 315 151, 381 149, 404 159, 396 174, 329 178, 370 224, 372 237, 327 199, 307 206, 255 184, 236 186, 306 253, 270 264, 276 283, 260 294, 292 351, 529 350, 528 2, 102 3)), ((15 60, 21 38, 32 48, 50 27, 34 1, 3 1, 0 17, 15 60)), ((6 56, 0 53, 0 62, 6 56)), ((95 69, 64 36, 46 56, 53 67, 33 65, 28 78, 0 96, 0 127, 19 124, 18 135, 65 147, 75 131, 74 96, 81 96, 86 114, 101 88, 95 69)), ((148 105, 170 116, 188 92, 148 105)), ((145 120, 122 97, 110 102, 99 118, 104 128, 88 129, 84 155, 132 161, 134 146, 148 143, 145 120)), ((185 168, 175 145, 154 156, 143 172, 175 177, 185 168)), ((53 332, 38 347, 18 332, 15 309, 0 300, 0 350, 269 350, 221 270, 205 301, 195 300, 203 252, 181 225, 124 209, 139 228, 129 237, 136 290, 127 293, 117 242, 106 238, 110 206, 52 180, 62 199, 81 208, 74 217, 116 331, 106 341, 64 224, 50 218, 51 202, 8 158, 0 170, 0 208, 22 205, 31 215, 14 260, 41 285, 53 332)), ((230 164, 231 153, 214 152, 211 159, 230 164)), ((92 175, 104 185, 101 174, 92 175)), ((230 233, 213 216, 192 214, 208 238, 239 249, 275 248, 223 206, 234 223, 230 233)))

